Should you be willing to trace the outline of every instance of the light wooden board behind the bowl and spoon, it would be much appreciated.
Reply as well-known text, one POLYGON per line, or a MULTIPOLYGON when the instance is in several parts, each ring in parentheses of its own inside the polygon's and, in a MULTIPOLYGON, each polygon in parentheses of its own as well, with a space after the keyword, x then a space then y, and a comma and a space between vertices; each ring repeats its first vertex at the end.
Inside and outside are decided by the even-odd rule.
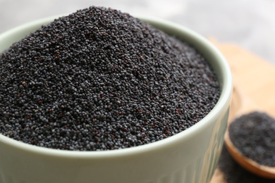
MULTIPOLYGON (((235 44, 210 41, 224 54, 233 75, 229 121, 255 108, 275 118, 275 65, 235 44)), ((226 183, 219 168, 210 183, 226 183)))

